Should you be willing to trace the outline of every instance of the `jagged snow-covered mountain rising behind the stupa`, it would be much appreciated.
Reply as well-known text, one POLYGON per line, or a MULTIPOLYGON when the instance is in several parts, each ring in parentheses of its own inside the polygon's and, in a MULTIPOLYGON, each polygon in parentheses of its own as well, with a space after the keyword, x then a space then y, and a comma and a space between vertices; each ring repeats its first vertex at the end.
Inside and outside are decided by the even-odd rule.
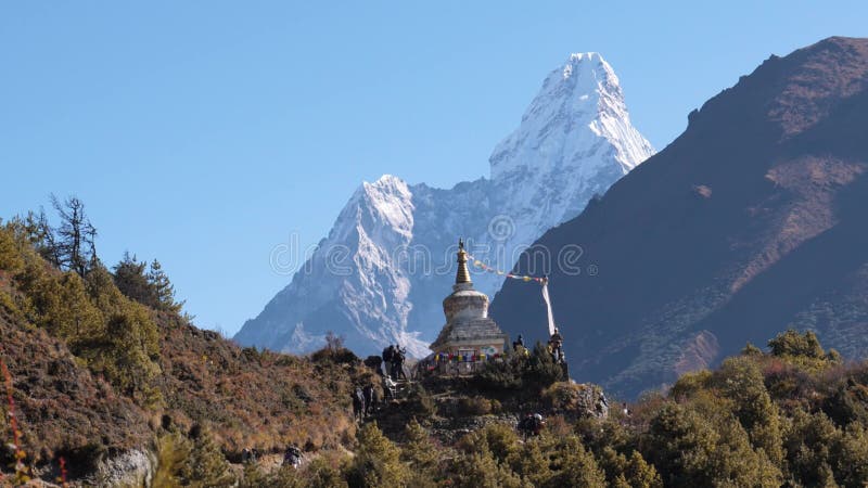
MULTIPOLYGON (((612 67, 598 53, 573 54, 495 147, 490 179, 448 190, 390 175, 362 183, 309 261, 235 339, 307 352, 333 331, 358 354, 399 343, 424 356, 443 326, 458 236, 481 260, 510 269, 653 152, 630 125, 612 67)), ((473 280, 493 295, 503 279, 473 280)))

